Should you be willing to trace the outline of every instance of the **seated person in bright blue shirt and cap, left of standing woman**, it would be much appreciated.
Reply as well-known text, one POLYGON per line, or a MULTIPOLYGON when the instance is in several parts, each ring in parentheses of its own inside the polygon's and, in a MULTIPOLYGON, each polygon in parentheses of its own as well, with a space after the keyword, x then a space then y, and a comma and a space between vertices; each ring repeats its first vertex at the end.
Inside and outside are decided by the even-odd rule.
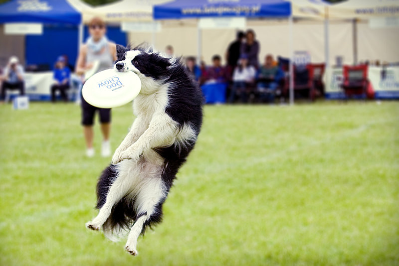
POLYGON ((68 102, 66 91, 69 89, 69 80, 71 72, 65 64, 63 56, 58 57, 55 62, 54 80, 55 84, 51 86, 51 102, 55 103, 55 92, 59 91, 64 102, 68 102))

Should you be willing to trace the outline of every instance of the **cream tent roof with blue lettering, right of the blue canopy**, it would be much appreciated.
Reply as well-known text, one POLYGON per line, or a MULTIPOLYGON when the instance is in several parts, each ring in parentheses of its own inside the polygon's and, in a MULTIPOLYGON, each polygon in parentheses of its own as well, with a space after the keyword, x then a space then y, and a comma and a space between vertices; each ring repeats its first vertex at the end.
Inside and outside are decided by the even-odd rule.
POLYGON ((382 16, 398 16, 399 0, 343 0, 329 3, 328 0, 295 0, 292 1, 294 17, 325 17, 328 7, 330 18, 372 18, 382 16))

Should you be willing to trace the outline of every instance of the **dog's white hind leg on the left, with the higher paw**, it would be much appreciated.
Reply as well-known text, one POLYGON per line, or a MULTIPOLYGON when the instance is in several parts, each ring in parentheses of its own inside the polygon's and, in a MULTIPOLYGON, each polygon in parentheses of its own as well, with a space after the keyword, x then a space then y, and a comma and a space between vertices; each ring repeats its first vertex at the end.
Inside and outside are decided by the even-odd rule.
MULTIPOLYGON (((98 215, 92 221, 86 223, 86 227, 92 230, 99 230, 111 214, 112 207, 126 196, 137 181, 138 173, 129 170, 131 161, 123 161, 117 165, 117 176, 106 196, 104 205, 100 208, 98 215)), ((136 167, 137 168, 137 167, 136 167)))

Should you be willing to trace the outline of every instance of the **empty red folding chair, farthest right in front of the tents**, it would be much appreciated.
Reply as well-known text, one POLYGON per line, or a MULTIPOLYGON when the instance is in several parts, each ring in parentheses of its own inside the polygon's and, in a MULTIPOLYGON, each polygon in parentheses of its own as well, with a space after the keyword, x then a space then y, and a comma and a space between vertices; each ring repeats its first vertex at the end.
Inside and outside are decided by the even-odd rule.
POLYGON ((369 80, 367 77, 368 65, 348 66, 344 65, 344 82, 341 87, 347 98, 353 96, 367 96, 369 80))

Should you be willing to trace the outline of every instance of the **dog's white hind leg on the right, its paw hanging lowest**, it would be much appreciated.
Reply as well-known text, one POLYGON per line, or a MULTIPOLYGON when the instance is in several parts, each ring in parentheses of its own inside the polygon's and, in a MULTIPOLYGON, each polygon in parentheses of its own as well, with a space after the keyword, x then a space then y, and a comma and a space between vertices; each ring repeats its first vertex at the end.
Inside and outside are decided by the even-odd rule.
POLYGON ((138 215, 130 229, 125 246, 125 249, 133 256, 138 255, 137 239, 140 233, 144 233, 146 222, 152 218, 155 218, 156 222, 161 219, 161 206, 167 195, 165 185, 160 177, 145 179, 140 186, 141 190, 135 201, 138 215))

